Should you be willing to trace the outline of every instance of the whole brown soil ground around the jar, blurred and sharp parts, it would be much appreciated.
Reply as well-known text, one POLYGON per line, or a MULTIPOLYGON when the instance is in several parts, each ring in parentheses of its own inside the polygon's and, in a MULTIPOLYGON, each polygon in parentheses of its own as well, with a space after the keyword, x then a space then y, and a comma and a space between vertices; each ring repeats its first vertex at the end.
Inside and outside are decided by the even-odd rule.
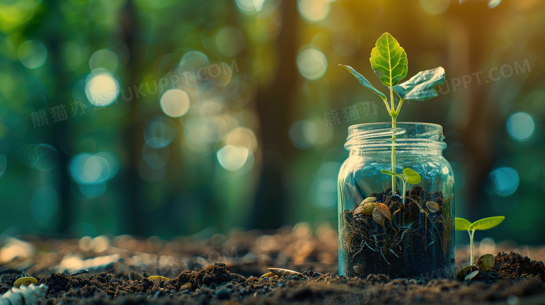
MULTIPOLYGON (((173 241, 126 235, 3 237, 0 293, 26 271, 49 286, 40 304, 545 304, 545 265, 539 262, 545 248, 483 245, 484 251, 496 253, 496 265, 472 281, 381 274, 349 278, 336 275, 336 235, 327 226, 311 232, 298 224, 274 232, 233 231, 173 241), (259 278, 267 267, 301 274, 259 278), (79 269, 89 273, 69 275, 79 269), (129 281, 130 271, 170 280, 129 281)), ((467 246, 459 246, 459 266, 467 258, 467 246)))

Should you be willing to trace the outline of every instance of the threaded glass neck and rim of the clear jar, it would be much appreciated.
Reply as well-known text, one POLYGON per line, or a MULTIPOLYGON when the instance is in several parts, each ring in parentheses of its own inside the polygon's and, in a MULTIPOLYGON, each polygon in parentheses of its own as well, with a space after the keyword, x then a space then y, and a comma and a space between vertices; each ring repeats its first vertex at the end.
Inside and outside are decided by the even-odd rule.
POLYGON ((391 128, 390 122, 366 123, 349 126, 344 148, 349 151, 379 151, 381 148, 405 147, 442 151, 446 147, 443 140, 443 127, 438 124, 399 122, 396 128, 391 128), (395 139, 392 139, 394 135, 395 139))

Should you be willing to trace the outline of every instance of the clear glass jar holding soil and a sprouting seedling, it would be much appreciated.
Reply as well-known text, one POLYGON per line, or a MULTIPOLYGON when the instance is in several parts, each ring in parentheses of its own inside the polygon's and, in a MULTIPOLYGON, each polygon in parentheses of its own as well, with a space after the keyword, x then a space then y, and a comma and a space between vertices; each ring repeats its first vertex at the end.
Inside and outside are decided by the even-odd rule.
POLYGON ((338 177, 340 275, 454 276, 454 177, 443 139, 437 124, 348 128, 338 177), (405 181, 407 168, 419 182, 414 174, 405 181))

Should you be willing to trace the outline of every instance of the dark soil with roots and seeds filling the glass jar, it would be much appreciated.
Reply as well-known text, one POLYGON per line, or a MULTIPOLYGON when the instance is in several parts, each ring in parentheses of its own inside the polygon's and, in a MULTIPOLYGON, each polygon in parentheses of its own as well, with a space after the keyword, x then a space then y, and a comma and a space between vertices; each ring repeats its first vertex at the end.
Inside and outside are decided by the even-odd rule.
POLYGON ((343 213, 340 266, 347 276, 386 274, 391 278, 451 278, 455 271, 450 198, 414 186, 405 193, 391 188, 369 197, 386 204, 391 220, 384 227, 353 210, 343 213), (435 202, 435 203, 433 203, 435 202), (438 207, 438 208, 437 208, 438 207))

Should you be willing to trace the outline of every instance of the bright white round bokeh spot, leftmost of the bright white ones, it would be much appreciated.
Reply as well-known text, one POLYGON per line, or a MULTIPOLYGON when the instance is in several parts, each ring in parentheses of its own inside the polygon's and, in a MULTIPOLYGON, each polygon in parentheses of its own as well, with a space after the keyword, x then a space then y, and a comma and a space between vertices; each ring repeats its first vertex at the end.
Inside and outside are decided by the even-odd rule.
POLYGON ((110 73, 92 73, 85 82, 85 96, 96 107, 106 107, 119 96, 119 82, 110 73))

